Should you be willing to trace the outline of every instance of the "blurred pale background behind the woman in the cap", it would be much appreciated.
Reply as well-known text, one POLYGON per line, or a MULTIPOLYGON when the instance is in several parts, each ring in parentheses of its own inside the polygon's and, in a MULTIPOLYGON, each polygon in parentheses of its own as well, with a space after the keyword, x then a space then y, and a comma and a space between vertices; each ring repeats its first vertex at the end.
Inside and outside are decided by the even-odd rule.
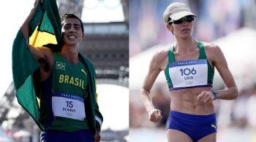
MULTIPOLYGON (((186 3, 197 17, 195 39, 219 45, 238 86, 236 100, 215 100, 217 142, 256 141, 256 1, 176 0, 186 3)), ((167 141, 165 123, 170 95, 163 72, 152 90, 154 106, 162 111, 159 123, 148 121, 140 87, 154 53, 168 49, 175 39, 162 19, 173 0, 129 0, 129 137, 132 142, 167 141)), ((225 85, 215 73, 214 88, 225 85)))

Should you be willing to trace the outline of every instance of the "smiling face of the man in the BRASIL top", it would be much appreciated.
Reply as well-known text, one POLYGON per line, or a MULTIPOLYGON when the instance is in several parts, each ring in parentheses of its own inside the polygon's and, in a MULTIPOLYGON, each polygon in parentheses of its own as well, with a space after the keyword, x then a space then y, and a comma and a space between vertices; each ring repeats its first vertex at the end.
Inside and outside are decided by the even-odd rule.
POLYGON ((62 22, 62 25, 61 32, 64 44, 77 45, 82 41, 84 33, 78 19, 67 18, 62 22))

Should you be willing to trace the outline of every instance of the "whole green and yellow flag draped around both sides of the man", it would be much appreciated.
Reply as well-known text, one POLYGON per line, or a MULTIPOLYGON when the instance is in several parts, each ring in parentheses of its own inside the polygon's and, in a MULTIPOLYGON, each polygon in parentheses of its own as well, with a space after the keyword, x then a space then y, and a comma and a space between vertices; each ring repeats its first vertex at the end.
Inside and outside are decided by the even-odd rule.
MULTIPOLYGON (((18 103, 29 112, 31 117, 39 126, 40 130, 44 127, 39 122, 39 98, 37 98, 33 73, 39 68, 39 63, 34 59, 28 48, 28 43, 33 47, 42 47, 45 44, 61 44, 61 18, 56 0, 44 0, 42 4, 38 4, 34 15, 29 21, 29 41, 23 36, 21 29, 12 47, 12 76, 15 87, 15 95, 18 103)), ((58 46, 56 46, 58 47, 58 46)), ((80 55, 83 64, 89 73, 89 91, 88 97, 85 99, 86 116, 89 121, 89 127, 92 133, 95 133, 96 122, 103 121, 102 114, 99 112, 97 104, 97 93, 95 84, 94 66, 80 55)))

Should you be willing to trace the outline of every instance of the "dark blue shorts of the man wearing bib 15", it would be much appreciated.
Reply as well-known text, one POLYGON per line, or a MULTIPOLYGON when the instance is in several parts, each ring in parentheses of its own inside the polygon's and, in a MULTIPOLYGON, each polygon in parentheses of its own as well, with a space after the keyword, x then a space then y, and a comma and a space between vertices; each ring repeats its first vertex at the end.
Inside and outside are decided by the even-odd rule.
POLYGON ((40 135, 41 142, 94 142, 94 136, 90 130, 78 130, 75 132, 64 132, 59 130, 44 130, 40 135))

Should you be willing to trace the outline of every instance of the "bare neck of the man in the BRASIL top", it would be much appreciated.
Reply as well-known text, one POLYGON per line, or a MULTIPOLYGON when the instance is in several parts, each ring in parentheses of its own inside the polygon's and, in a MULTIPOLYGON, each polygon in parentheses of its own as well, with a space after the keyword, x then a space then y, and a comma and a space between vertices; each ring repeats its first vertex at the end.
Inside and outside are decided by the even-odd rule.
POLYGON ((76 46, 63 46, 61 48, 61 55, 70 63, 78 64, 78 47, 76 46))

